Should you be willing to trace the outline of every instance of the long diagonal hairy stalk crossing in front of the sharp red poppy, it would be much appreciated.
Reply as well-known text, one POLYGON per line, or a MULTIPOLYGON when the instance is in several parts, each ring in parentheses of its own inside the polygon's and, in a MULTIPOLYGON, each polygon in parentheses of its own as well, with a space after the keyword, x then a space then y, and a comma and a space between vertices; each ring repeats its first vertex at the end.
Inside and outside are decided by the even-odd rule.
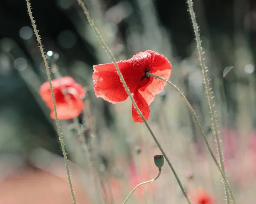
POLYGON ((163 154, 164 158, 166 159, 166 162, 168 163, 169 167, 171 168, 176 180, 177 180, 177 183, 179 184, 180 186, 180 189, 183 193, 183 195, 185 196, 186 198, 186 201, 191 204, 191 201, 189 200, 189 197, 188 195, 186 194, 186 191, 183 187, 183 185, 181 184, 181 181, 177 175, 177 173, 175 172, 174 168, 172 167, 172 164, 171 162, 169 161, 169 158, 167 157, 166 153, 163 151, 163 148, 161 147, 160 143, 158 142, 157 138, 155 137, 153 131, 151 130, 150 126, 148 125, 147 121, 145 120, 144 116, 142 115, 140 109, 138 108, 137 104, 135 103, 134 99, 132 98, 132 95, 130 93, 130 90, 128 89, 128 86, 122 76, 122 73, 120 72, 120 69, 118 68, 117 64, 116 64, 116 59, 115 57, 113 56, 111 50, 108 48, 108 46, 106 45, 106 43, 104 42, 104 40, 102 39, 101 35, 99 34, 99 30, 96 28, 96 26, 94 25, 94 22, 93 20, 91 19, 90 17, 90 14, 89 12, 87 11, 87 8, 85 7, 84 3, 82 2, 82 0, 77 0, 79 6, 81 6, 81 8, 83 9, 84 11, 84 14, 86 15, 87 17, 87 20, 88 22, 90 23, 90 26, 92 27, 93 31, 96 33, 96 36, 97 38, 99 39, 99 42, 102 44, 102 47, 106 50, 106 52, 108 52, 108 55, 110 56, 111 60, 113 61, 115 67, 116 67, 116 72, 117 74, 119 75, 122 83, 123 83, 123 86, 125 87, 125 91, 127 92, 127 94, 129 95, 130 99, 131 99, 131 102, 132 104, 134 105, 134 107, 136 108, 137 112, 139 113, 140 117, 143 119, 144 123, 145 123, 145 126, 148 128, 148 131, 150 132, 151 136, 153 137, 155 143, 157 144, 158 148, 160 149, 161 153, 163 154))

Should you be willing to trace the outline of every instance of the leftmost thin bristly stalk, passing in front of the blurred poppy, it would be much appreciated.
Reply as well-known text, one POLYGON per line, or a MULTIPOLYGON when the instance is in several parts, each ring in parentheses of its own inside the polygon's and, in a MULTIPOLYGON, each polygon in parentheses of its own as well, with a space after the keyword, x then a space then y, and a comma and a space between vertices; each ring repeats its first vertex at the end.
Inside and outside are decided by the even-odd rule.
POLYGON ((53 89, 52 89, 52 82, 51 82, 49 67, 48 67, 48 63, 47 63, 47 60, 46 60, 46 57, 45 57, 45 54, 44 54, 44 49, 43 49, 38 31, 36 29, 34 18, 32 16, 32 11, 31 11, 29 0, 26 0, 26 4, 27 4, 28 12, 29 12, 29 18, 31 20, 31 23, 32 23, 32 26, 33 26, 33 29, 34 29, 34 32, 35 32, 35 36, 36 36, 36 39, 37 39, 38 44, 39 44, 40 51, 41 51, 42 57, 44 59, 44 65, 45 65, 45 68, 46 68, 46 71, 47 71, 47 78, 48 78, 50 89, 51 89, 52 103, 53 103, 53 108, 54 108, 55 123, 56 123, 56 127, 57 127, 58 138, 59 138, 60 143, 61 143, 61 150, 62 150, 63 157, 64 157, 64 163, 65 163, 65 167, 66 167, 66 171, 67 171, 67 178, 68 178, 68 183, 69 183, 69 186, 70 186, 70 192, 71 192, 71 195, 72 195, 73 204, 76 204, 76 197, 75 197, 75 193, 74 193, 74 190, 73 190, 73 186, 72 186, 72 182, 71 182, 71 176, 70 176, 70 170, 69 170, 69 166, 68 166, 68 162, 67 162, 67 154, 66 154, 65 147, 64 147, 64 141, 63 141, 62 135, 61 135, 61 129, 60 129, 60 126, 59 126, 59 123, 58 123, 57 109, 56 109, 56 103, 55 103, 54 93, 53 93, 53 89))

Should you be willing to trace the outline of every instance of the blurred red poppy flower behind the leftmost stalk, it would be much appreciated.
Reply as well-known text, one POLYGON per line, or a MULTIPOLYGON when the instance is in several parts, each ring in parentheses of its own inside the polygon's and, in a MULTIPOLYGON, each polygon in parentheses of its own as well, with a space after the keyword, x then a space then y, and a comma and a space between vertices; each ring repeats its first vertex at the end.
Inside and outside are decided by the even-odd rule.
MULTIPOLYGON (((58 119, 66 120, 79 116, 84 106, 84 101, 82 100, 85 96, 84 88, 71 77, 62 77, 52 80, 52 88, 55 96, 58 119), (64 91, 67 92, 66 95, 64 95, 64 91)), ((55 115, 49 82, 45 82, 41 85, 39 94, 46 105, 51 109, 50 116, 54 119, 55 115)))

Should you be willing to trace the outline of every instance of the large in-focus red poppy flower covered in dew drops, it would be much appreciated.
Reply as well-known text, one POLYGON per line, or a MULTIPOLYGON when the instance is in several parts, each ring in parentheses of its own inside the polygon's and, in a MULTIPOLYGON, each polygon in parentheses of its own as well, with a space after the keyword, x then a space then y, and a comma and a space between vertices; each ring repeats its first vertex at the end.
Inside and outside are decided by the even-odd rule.
MULTIPOLYGON (((150 113, 148 105, 154 100, 155 95, 163 91, 166 83, 160 79, 148 77, 146 73, 169 79, 172 65, 166 57, 151 50, 140 52, 129 60, 118 61, 117 65, 130 92, 133 93, 134 101, 148 120, 150 113)), ((128 98, 114 63, 95 65, 93 70, 96 97, 101 97, 110 103, 118 103, 128 98)), ((143 122, 134 106, 132 106, 132 118, 135 122, 143 122)))

